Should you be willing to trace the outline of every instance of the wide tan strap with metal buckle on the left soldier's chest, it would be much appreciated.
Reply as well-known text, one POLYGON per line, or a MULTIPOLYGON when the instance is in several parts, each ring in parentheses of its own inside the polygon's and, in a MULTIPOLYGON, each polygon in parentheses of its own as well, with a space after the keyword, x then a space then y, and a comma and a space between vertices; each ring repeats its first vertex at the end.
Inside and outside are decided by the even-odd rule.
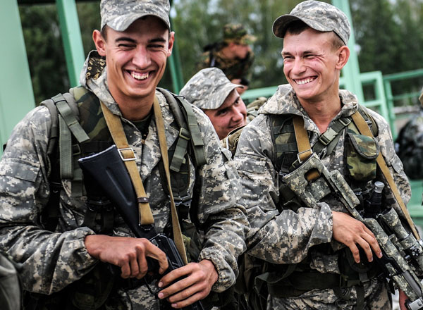
POLYGON ((100 101, 100 105, 102 106, 104 119, 106 120, 111 137, 118 148, 119 154, 121 154, 123 163, 125 163, 130 179, 133 182, 135 194, 137 195, 140 225, 152 225, 154 224, 152 209, 149 206, 144 185, 142 185, 140 172, 138 171, 137 163, 135 161, 135 152, 129 147, 128 140, 126 139, 125 132, 123 131, 121 118, 116 114, 111 113, 102 101, 100 101))

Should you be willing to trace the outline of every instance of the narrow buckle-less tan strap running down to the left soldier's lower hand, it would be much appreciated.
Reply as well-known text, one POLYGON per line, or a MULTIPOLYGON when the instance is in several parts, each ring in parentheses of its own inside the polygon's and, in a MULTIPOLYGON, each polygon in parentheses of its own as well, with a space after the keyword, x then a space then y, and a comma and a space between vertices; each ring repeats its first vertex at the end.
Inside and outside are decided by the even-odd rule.
POLYGON ((185 252, 185 246, 183 244, 182 232, 180 230, 178 212, 176 212, 175 200, 173 199, 172 185, 171 185, 171 173, 169 171, 169 159, 166 143, 166 135, 164 133, 164 121, 163 115, 161 114, 159 100, 154 96, 154 118, 156 119, 157 132, 159 134, 159 144, 161 151, 161 159, 163 159, 164 171, 166 172, 166 180, 168 183, 168 192, 171 197, 171 215, 172 215, 172 228, 173 228, 173 240, 175 241, 176 248, 180 254, 185 265, 188 263, 187 254, 185 252))

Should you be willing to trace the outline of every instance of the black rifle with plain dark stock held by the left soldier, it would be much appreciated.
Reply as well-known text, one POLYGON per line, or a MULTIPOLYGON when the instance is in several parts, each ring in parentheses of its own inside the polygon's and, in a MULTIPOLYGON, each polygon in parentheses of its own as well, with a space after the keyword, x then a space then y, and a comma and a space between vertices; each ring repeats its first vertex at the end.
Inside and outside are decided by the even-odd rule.
MULTIPOLYGON (((157 260, 147 257, 148 270, 154 273, 154 278, 159 279, 184 266, 173 240, 166 235, 157 234, 154 225, 140 225, 138 222, 137 197, 116 145, 112 145, 100 153, 83 157, 78 160, 78 163, 84 175, 88 200, 104 199, 104 197, 110 199, 135 237, 149 239, 166 253, 168 269, 163 275, 158 273, 159 263, 157 260)), ((166 302, 166 309, 173 309, 168 302, 166 302)), ((203 310, 204 308, 198 301, 183 309, 203 310)))

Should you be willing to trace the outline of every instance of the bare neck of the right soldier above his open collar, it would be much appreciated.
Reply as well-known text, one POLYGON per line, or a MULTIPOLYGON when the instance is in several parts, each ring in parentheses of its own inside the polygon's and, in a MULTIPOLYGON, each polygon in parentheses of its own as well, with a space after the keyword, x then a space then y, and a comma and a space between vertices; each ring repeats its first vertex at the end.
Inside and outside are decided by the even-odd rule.
POLYGON ((341 111, 341 99, 338 95, 324 101, 303 101, 300 100, 301 106, 305 109, 309 117, 319 128, 319 132, 325 132, 331 120, 341 111))

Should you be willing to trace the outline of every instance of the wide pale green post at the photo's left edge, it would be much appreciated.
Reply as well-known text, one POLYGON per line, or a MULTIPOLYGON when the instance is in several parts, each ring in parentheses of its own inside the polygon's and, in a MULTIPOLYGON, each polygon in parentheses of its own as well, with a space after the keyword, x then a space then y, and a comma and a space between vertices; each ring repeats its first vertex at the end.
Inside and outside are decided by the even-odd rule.
POLYGON ((0 9, 0 155, 13 127, 35 107, 18 1, 3 0, 0 9))

